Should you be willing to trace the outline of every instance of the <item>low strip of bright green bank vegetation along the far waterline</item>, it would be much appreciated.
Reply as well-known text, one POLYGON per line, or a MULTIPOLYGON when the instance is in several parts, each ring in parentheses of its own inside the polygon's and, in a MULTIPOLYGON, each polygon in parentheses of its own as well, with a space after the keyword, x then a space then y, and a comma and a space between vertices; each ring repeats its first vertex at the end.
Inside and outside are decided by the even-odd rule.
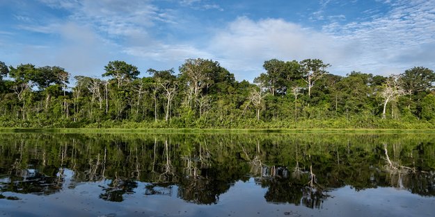
POLYGON ((56 129, 56 128, 77 128, 77 129, 139 129, 150 130, 155 132, 155 129, 161 130, 180 130, 186 131, 193 129, 200 130, 435 130, 435 122, 422 121, 418 119, 380 119, 379 117, 370 118, 351 118, 344 117, 330 119, 287 119, 276 121, 258 121, 256 119, 237 119, 234 121, 216 121, 210 122, 207 120, 197 120, 193 122, 183 121, 182 119, 171 119, 170 121, 113 121, 102 120, 93 122, 74 122, 67 119, 49 122, 41 120, 1 120, 0 128, 41 128, 41 129, 56 129))

